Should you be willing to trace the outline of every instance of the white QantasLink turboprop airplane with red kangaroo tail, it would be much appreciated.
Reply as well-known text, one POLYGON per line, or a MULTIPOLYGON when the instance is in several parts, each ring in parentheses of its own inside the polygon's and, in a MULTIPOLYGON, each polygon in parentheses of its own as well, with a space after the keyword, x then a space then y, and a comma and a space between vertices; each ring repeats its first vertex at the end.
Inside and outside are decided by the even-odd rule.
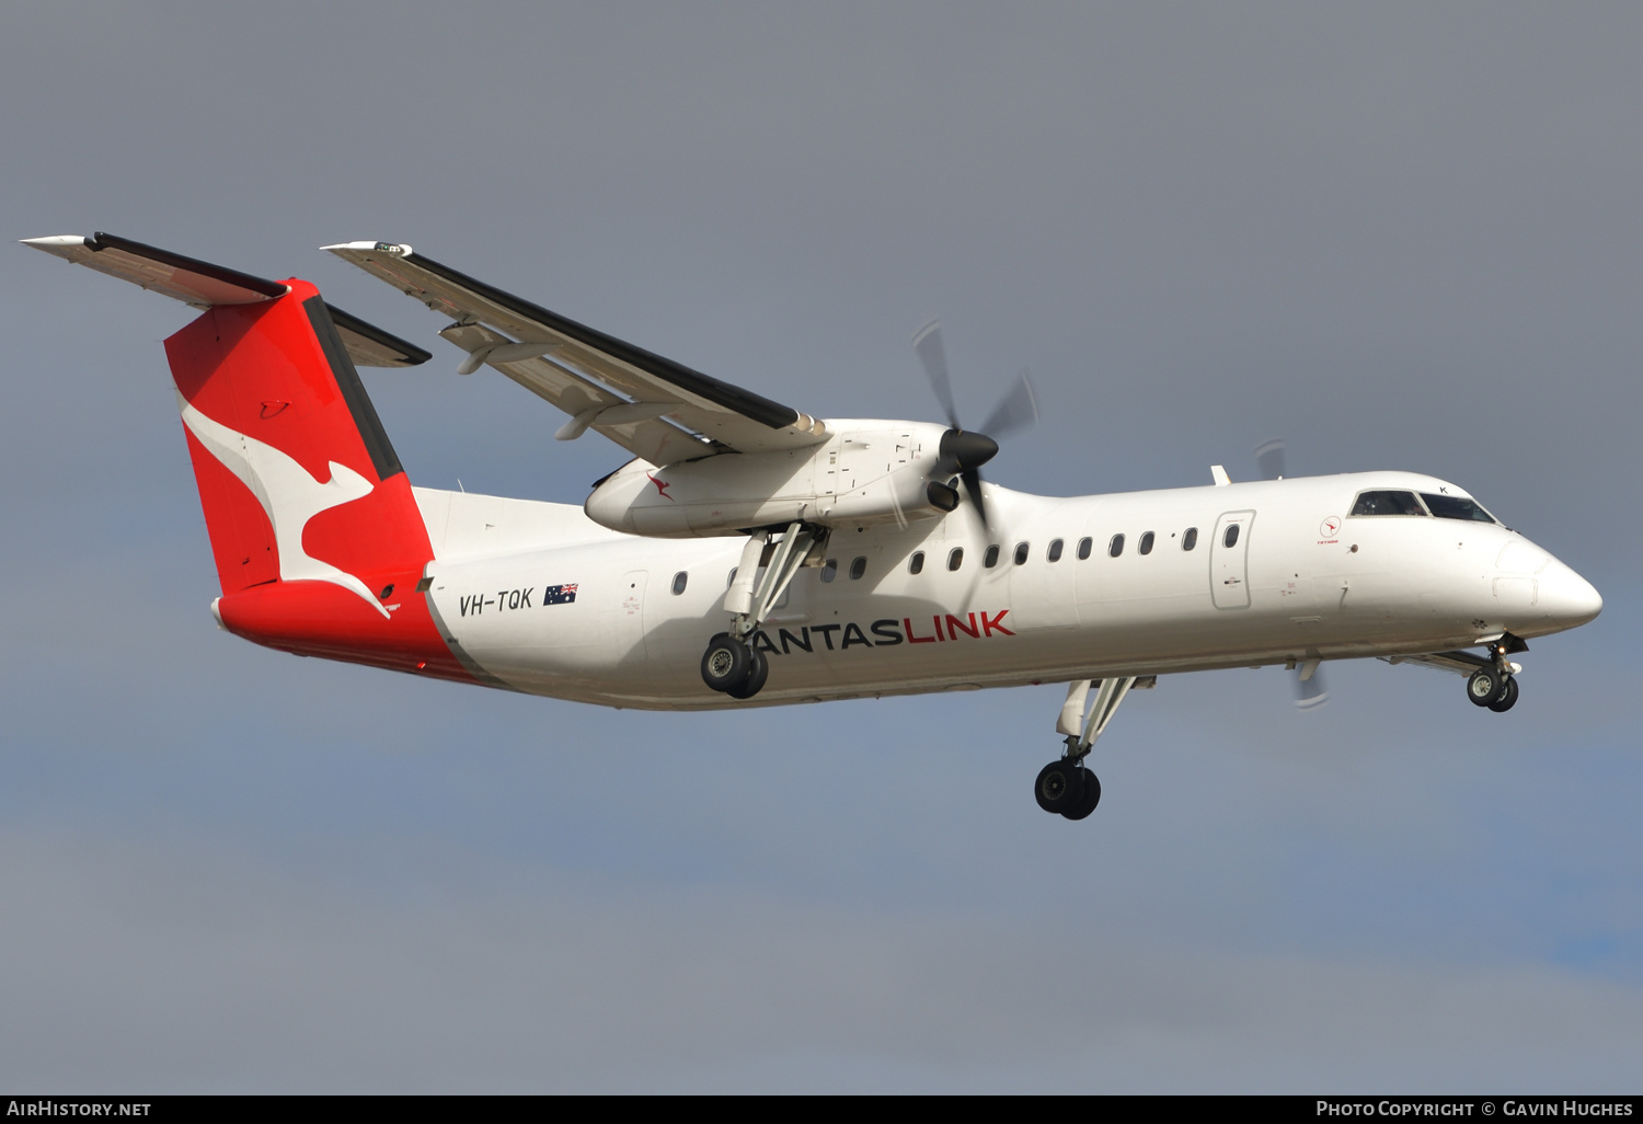
POLYGON ((391 242, 325 246, 631 460, 578 508, 412 486, 358 366, 429 352, 320 297, 108 233, 25 245, 182 301, 166 340, 217 562, 217 624, 284 652, 606 707, 708 710, 1068 684, 1033 781, 1068 820, 1158 675, 1324 661, 1459 672, 1518 700, 1526 641, 1602 598, 1464 488, 1411 472, 1094 496, 984 481, 1037 416, 1025 375, 966 431, 940 329, 914 340, 946 424, 818 419, 391 242), (991 432, 989 432, 991 431, 991 432), (1477 651, 1474 651, 1477 649, 1477 651))

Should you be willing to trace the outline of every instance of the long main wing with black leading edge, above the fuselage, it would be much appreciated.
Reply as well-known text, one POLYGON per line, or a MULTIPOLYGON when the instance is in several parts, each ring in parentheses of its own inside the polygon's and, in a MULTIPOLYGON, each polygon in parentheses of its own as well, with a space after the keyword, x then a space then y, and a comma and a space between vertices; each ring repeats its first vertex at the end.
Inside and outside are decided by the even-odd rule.
POLYGON ((468 353, 458 371, 488 363, 570 414, 554 434, 560 440, 593 429, 652 465, 826 440, 826 427, 792 406, 549 312, 411 246, 348 242, 325 250, 449 316, 440 335, 468 353))

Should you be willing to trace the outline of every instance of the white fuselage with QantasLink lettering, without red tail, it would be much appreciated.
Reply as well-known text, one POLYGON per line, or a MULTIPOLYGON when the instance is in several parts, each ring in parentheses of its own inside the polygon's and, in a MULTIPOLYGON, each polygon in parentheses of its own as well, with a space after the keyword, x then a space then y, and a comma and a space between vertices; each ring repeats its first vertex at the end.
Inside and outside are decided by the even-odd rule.
POLYGON ((614 707, 1420 654, 1556 633, 1600 610, 1584 578, 1505 526, 1349 514, 1369 488, 1466 495, 1401 472, 1065 500, 987 485, 991 534, 968 504, 905 526, 835 527, 826 557, 836 567, 802 570, 754 638, 771 675, 748 703, 708 690, 698 670, 729 623, 723 598, 743 539, 628 536, 567 504, 432 490, 417 490, 417 503, 435 554, 429 595, 470 670, 614 707), (1231 524, 1239 532, 1227 547, 1231 524), (1196 542, 1183 549, 1190 531, 1196 542), (963 559, 948 569, 956 549, 963 559), (861 577, 851 577, 856 559, 861 577))

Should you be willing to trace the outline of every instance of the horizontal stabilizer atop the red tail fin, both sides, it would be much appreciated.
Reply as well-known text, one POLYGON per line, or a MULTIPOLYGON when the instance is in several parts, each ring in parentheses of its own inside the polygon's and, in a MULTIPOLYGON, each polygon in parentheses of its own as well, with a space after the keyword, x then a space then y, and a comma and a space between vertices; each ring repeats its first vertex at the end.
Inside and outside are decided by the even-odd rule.
MULTIPOLYGON (((184 258, 181 253, 100 230, 90 238, 53 235, 49 238, 25 238, 23 243, 64 261, 140 284, 151 293, 182 301, 196 309, 209 309, 214 304, 258 304, 281 297, 291 289, 283 281, 253 278, 250 273, 184 258)), ((342 345, 357 366, 416 366, 434 358, 416 343, 407 343, 375 324, 348 316, 335 304, 325 307, 330 309, 330 319, 337 325, 342 345)))

